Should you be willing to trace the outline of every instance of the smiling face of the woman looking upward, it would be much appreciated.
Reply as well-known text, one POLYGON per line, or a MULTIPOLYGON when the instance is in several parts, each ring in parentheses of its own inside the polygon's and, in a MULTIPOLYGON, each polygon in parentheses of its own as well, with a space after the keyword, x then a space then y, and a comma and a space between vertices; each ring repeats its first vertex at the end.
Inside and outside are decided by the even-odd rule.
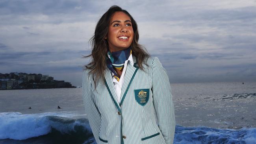
POLYGON ((125 50, 132 44, 134 30, 131 18, 123 12, 115 12, 110 20, 107 39, 110 52, 125 50))

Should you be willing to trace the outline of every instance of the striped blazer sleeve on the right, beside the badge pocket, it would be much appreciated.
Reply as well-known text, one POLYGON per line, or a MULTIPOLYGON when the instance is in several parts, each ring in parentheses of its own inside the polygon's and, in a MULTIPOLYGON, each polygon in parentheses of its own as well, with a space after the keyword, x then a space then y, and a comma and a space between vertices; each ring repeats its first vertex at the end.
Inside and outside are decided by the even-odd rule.
POLYGON ((152 62, 152 81, 153 104, 159 128, 166 144, 173 144, 175 116, 171 86, 167 72, 157 57, 152 62))

